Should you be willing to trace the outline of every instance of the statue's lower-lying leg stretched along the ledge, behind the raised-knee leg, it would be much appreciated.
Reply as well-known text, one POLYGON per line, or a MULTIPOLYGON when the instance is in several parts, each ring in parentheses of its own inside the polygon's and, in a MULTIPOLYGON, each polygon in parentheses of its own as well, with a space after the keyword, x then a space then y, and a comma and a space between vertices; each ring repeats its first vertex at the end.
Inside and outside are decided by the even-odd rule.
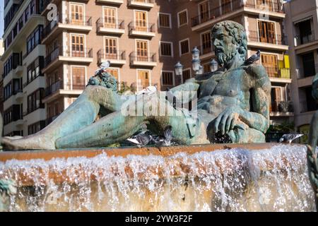
MULTIPOLYGON (((156 97, 154 97, 156 98, 156 97)), ((158 99, 157 99, 158 100, 158 99)), ((141 100, 142 101, 142 100, 141 100)), ((165 114, 147 114, 145 113, 146 103, 153 103, 156 100, 143 100, 143 114, 137 116, 126 116, 121 111, 107 114, 106 117, 96 121, 90 126, 86 126, 80 131, 70 133, 57 139, 57 148, 89 148, 89 147, 105 147, 113 143, 126 140, 140 129, 145 122, 149 122, 151 126, 155 125, 156 129, 164 129, 165 126, 172 126, 172 137, 180 143, 191 143, 186 119, 180 110, 174 109, 170 103, 160 100, 158 101, 158 109, 163 106, 167 107, 165 114), (170 112, 170 114, 167 114, 170 112)), ((153 106, 154 107, 154 106, 153 106)), ((138 107, 137 107, 138 108, 138 107)), ((136 111, 138 112, 138 111, 136 111)), ((157 112, 159 113, 159 112, 157 112)), ((149 127, 151 127, 149 126, 149 127)))

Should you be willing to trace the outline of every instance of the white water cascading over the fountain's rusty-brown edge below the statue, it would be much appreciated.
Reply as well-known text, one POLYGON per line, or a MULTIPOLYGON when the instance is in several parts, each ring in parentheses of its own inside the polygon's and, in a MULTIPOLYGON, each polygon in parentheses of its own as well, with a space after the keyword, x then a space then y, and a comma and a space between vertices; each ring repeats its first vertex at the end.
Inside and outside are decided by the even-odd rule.
POLYGON ((8 160, 10 211, 314 211, 305 146, 8 160), (28 186, 25 186, 25 185, 28 186))

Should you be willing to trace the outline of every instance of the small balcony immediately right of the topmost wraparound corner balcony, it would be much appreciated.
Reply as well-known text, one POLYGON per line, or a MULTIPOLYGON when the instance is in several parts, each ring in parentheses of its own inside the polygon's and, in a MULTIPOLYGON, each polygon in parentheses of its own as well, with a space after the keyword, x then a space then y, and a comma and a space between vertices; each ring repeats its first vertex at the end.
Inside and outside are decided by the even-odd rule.
POLYGON ((125 32, 124 20, 113 20, 112 18, 105 18, 105 23, 99 18, 96 22, 96 27, 99 33, 122 35, 125 32))

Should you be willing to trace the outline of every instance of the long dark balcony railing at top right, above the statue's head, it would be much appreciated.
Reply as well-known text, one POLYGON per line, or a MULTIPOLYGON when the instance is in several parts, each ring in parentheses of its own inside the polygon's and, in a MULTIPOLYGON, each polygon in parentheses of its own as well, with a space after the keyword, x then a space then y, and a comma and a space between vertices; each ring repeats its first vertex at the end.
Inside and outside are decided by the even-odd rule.
POLYGON ((207 20, 213 20, 220 16, 226 15, 228 13, 232 13, 233 11, 237 11, 240 8, 247 7, 247 8, 257 8, 259 10, 264 11, 272 11, 272 12, 282 12, 280 4, 278 1, 266 1, 268 4, 255 4, 253 1, 247 1, 243 4, 242 0, 233 0, 228 4, 222 4, 216 8, 212 8, 210 11, 206 11, 204 13, 200 13, 198 16, 191 18, 191 25, 192 27, 199 25, 201 23, 206 22, 207 20))

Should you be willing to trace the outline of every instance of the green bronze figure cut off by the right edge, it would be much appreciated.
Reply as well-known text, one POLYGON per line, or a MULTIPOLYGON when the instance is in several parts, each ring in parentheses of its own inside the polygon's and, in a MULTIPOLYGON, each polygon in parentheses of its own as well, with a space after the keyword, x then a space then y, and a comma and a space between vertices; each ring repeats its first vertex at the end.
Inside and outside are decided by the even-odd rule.
MULTIPOLYGON (((318 74, 312 81, 312 97, 318 102, 318 74)), ((318 210, 318 158, 316 153, 318 141, 318 111, 312 117, 310 124, 309 145, 307 148, 308 173, 315 193, 316 208, 318 210)))

